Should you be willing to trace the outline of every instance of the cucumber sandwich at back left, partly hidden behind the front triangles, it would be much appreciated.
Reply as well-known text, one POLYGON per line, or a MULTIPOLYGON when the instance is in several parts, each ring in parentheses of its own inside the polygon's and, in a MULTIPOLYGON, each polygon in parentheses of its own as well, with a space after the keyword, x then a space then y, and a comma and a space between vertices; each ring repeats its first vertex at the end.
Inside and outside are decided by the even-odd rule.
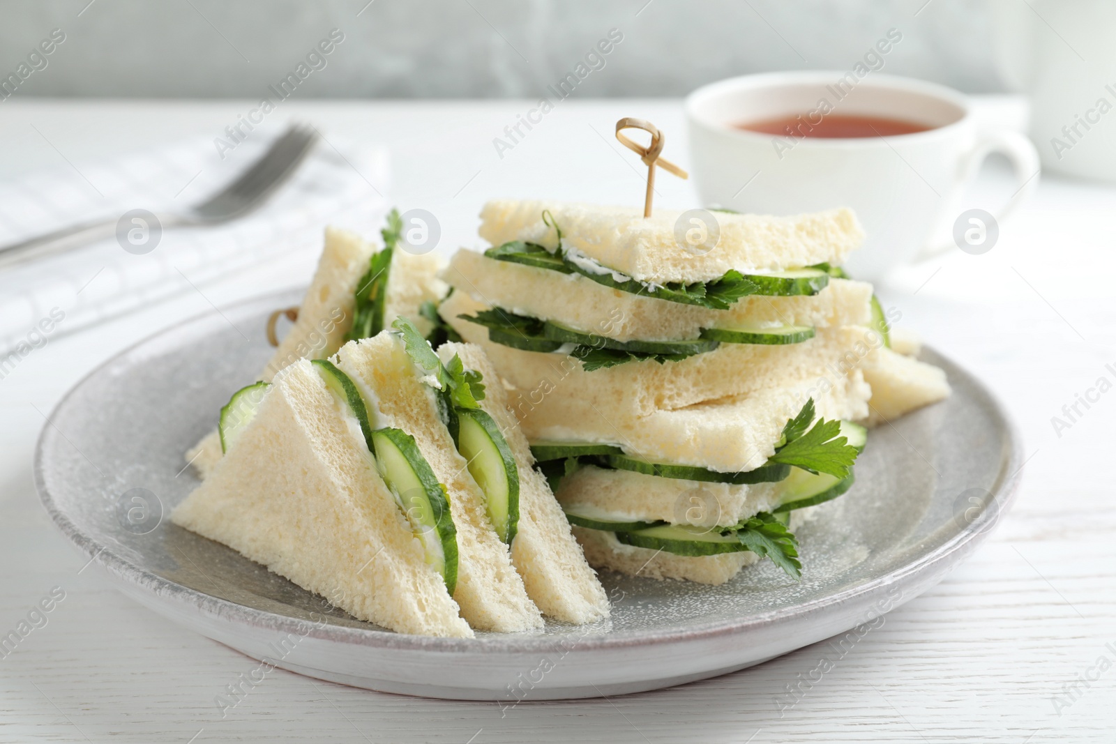
MULTIPOLYGON (((443 325, 432 308, 446 291, 436 278, 443 261, 401 249, 402 229, 395 210, 387 215, 378 248, 355 233, 326 229, 325 247, 298 319, 259 380, 271 381, 298 359, 325 359, 350 338, 375 336, 397 316, 412 320, 425 335, 439 332, 443 325)), ((186 453, 186 461, 205 477, 221 454, 221 439, 212 432, 186 453)))

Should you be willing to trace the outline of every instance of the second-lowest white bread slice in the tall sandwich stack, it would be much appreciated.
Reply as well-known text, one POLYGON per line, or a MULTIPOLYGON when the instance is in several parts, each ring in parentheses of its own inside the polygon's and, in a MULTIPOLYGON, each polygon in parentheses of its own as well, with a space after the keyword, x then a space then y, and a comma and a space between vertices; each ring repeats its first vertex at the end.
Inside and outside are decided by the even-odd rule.
POLYGON ((778 483, 703 483, 589 465, 564 477, 555 495, 564 508, 588 508, 633 522, 712 528, 771 511, 780 503, 779 490, 778 483))

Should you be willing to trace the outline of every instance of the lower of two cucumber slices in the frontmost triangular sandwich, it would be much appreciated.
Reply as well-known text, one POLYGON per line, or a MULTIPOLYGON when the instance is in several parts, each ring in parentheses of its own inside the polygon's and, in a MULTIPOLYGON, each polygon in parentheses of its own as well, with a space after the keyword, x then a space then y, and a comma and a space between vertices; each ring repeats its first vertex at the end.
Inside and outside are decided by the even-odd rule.
POLYGON ((398 428, 372 433, 376 470, 395 494, 426 552, 426 563, 442 574, 453 595, 458 586, 458 531, 445 489, 437 482, 414 437, 398 428))

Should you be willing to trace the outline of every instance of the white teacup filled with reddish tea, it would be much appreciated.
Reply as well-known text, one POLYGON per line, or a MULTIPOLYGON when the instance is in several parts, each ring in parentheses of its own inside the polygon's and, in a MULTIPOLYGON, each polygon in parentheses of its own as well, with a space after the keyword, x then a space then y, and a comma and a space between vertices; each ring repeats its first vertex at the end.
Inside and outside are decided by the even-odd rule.
POLYGON ((759 214, 852 207, 867 234, 846 265, 859 279, 877 280, 954 244, 983 252, 995 240, 998 221, 1038 183, 1038 153, 1026 136, 978 133, 965 97, 932 83, 875 73, 859 79, 848 71, 748 75, 699 88, 685 108, 691 168, 706 205, 759 214), (831 114, 929 128, 839 139, 739 128, 799 114, 807 124, 831 114), (993 152, 1011 161, 1019 190, 995 215, 962 212, 962 187, 993 152), (947 224, 954 242, 930 245, 947 224))

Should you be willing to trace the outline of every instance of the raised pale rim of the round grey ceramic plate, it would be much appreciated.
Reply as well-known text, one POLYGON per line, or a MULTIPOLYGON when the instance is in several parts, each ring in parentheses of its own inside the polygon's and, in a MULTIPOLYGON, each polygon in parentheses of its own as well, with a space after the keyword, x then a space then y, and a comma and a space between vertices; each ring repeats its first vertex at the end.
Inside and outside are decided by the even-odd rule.
MULTIPOLYGON (((419 636, 382 630, 376 627, 354 628, 330 624, 314 622, 311 620, 299 619, 290 616, 279 615, 268 610, 257 609, 240 605, 232 600, 214 597, 193 587, 180 584, 170 579, 155 574, 140 566, 134 564, 122 555, 116 554, 108 545, 100 544, 90 534, 84 532, 78 525, 58 506, 54 495, 46 483, 45 450, 51 436, 59 435, 66 438, 54 426, 54 419, 75 397, 75 395, 90 379, 98 376, 103 370, 114 364, 119 363, 124 357, 135 350, 165 338, 176 330, 195 323, 209 322, 219 317, 224 317, 225 312, 247 311, 253 306, 279 307, 283 300, 298 291, 297 287, 289 287, 283 290, 260 294, 243 299, 233 303, 221 306, 205 312, 192 316, 184 320, 166 326, 153 334, 148 334, 138 341, 116 351, 110 357, 92 368, 81 376, 59 399, 44 422, 39 432, 35 448, 33 480, 35 487, 39 494, 44 508, 51 521, 61 533, 74 543, 89 559, 90 562, 100 558, 102 568, 108 573, 118 577, 121 580, 134 584, 152 595, 173 597, 175 600, 194 606, 200 612, 210 616, 211 619, 231 620, 237 624, 252 627, 269 628, 279 632, 297 632, 306 636, 306 627, 312 626, 309 635, 320 640, 357 645, 392 650, 414 650, 414 651, 440 651, 470 654, 477 651, 489 653, 492 647, 498 647, 506 654, 537 654, 554 651, 562 648, 562 644, 568 644, 568 637, 538 637, 520 636, 519 634, 500 634, 479 638, 442 638, 435 636, 419 636), (57 434, 55 434, 57 433, 57 434)), ((230 321, 231 322, 231 321, 230 321)), ((975 375, 964 367, 953 361, 952 358, 941 354, 936 349, 923 346, 923 352, 929 352, 936 363, 944 364, 950 375, 960 375, 968 378, 968 381, 980 392, 987 399, 989 408, 1002 425, 1006 454, 1001 460, 1001 467, 997 476, 992 497, 998 504, 997 519, 1002 518, 1013 503, 1019 491, 1022 479, 1023 460, 1022 438, 1018 425, 1008 413, 1003 403, 989 387, 987 387, 975 375)), ((715 639, 739 634, 745 634, 759 627, 769 626, 775 622, 792 622, 802 620, 818 612, 843 605, 855 605, 864 600, 870 600, 881 590, 898 582, 905 582, 917 576, 933 576, 934 568, 954 553, 968 554, 983 542, 989 534, 994 531, 995 524, 989 529, 961 529, 952 538, 943 542, 934 550, 921 553, 908 563, 876 577, 869 581, 862 582, 854 587, 844 589, 837 593, 826 595, 804 603, 785 608, 766 610, 748 616, 745 619, 727 619, 708 622, 699 622, 684 628, 671 630, 648 631, 648 630, 616 630, 606 634, 584 634, 578 636, 577 647, 584 650, 596 649, 618 649, 633 646, 663 646, 674 645, 684 641, 699 641, 715 639)), ((907 601, 905 598, 896 602, 889 609, 894 609, 899 603, 907 601)), ((368 624, 369 626, 372 624, 368 624)), ((571 626, 576 627, 576 626, 571 626)))

